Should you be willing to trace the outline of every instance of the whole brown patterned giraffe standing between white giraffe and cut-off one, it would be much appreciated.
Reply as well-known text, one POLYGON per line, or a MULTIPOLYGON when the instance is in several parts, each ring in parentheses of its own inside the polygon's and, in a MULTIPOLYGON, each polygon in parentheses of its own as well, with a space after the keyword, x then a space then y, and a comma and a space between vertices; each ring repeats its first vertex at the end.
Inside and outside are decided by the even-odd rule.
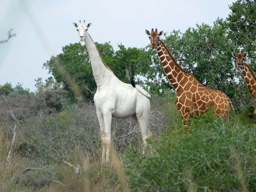
POLYGON ((191 115, 204 114, 208 107, 213 107, 213 113, 228 119, 231 100, 222 91, 203 86, 197 79, 176 62, 165 44, 159 39, 162 31, 158 33, 152 28, 146 34, 151 40, 151 47, 156 49, 167 78, 177 92, 175 104, 180 111, 183 126, 187 126, 186 119, 191 115))

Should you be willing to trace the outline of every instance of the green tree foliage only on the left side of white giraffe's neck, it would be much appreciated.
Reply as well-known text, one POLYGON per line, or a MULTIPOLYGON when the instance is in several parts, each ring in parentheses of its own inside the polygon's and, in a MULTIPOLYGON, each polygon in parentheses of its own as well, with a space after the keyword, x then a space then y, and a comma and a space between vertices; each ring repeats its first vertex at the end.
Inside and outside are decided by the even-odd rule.
POLYGON ((59 71, 62 68, 78 84, 84 96, 91 100, 96 84, 93 79, 86 47, 81 43, 75 43, 64 46, 62 51, 63 53, 56 57, 52 56, 50 60, 44 63, 44 68, 48 69, 49 73, 56 79, 56 82, 62 83, 63 89, 70 93, 70 97, 73 97, 68 79, 66 79, 65 74, 59 71))

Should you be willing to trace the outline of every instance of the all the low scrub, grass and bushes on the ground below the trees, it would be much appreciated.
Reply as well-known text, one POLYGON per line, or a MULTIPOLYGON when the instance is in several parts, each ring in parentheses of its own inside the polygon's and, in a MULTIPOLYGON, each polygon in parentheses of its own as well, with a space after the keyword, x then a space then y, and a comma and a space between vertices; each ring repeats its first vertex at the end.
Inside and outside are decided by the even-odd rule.
POLYGON ((174 100, 172 93, 153 96, 153 136, 144 154, 136 124, 113 119, 112 162, 101 165, 93 104, 68 104, 61 92, 10 97, 18 139, 7 165, 14 122, 1 102, 0 191, 256 191, 250 110, 231 111, 228 122, 212 113, 193 117, 184 135, 174 100))

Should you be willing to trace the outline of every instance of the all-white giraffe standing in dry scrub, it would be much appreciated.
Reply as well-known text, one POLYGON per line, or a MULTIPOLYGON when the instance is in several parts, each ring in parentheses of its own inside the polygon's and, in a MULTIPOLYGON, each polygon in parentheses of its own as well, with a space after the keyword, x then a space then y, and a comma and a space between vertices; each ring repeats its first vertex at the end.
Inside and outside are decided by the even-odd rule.
MULTIPOLYGON (((111 147, 112 117, 127 119, 132 117, 140 126, 143 144, 151 136, 148 129, 151 96, 139 85, 120 81, 103 62, 94 41, 87 32, 91 23, 73 23, 78 31, 79 40, 84 41, 89 53, 92 73, 97 84, 94 103, 101 129, 102 162, 109 162, 111 147)), ((143 150, 144 151, 144 150, 143 150)))

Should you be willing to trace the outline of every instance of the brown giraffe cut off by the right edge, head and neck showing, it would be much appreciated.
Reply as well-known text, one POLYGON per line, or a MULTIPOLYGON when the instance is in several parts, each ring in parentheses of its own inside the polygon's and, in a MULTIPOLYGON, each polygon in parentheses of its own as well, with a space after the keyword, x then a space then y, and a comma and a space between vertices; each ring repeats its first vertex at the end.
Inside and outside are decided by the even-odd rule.
MULTIPOLYGON (((250 66, 244 62, 247 55, 248 52, 232 52, 232 56, 236 58, 237 67, 242 70, 247 88, 256 102, 256 76, 250 66)), ((254 110, 254 116, 256 117, 256 109, 254 110)))

